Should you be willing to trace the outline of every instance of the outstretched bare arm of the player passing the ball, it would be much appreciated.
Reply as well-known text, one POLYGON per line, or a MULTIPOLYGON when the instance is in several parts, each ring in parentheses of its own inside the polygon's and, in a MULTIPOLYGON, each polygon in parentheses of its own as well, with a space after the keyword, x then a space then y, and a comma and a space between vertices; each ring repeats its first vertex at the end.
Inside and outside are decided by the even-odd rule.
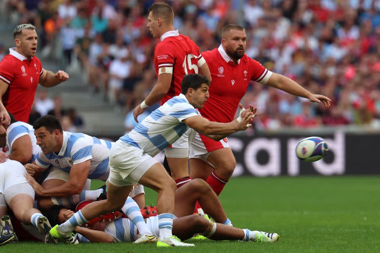
POLYGON ((240 122, 234 120, 230 123, 219 123, 211 122, 202 116, 197 115, 185 119, 184 123, 202 135, 206 135, 214 140, 221 140, 234 132, 251 127, 253 118, 254 114, 252 112, 247 112, 240 122))

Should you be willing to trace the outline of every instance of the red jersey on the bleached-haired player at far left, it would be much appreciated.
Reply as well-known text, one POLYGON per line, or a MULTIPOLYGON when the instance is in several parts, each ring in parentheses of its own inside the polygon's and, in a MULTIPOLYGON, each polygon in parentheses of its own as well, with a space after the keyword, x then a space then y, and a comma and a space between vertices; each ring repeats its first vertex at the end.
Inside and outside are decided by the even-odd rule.
POLYGON ((13 48, 10 48, 9 54, 1 60, 0 79, 9 85, 2 96, 2 103, 16 121, 28 123, 42 73, 41 61, 36 56, 28 60, 13 48))

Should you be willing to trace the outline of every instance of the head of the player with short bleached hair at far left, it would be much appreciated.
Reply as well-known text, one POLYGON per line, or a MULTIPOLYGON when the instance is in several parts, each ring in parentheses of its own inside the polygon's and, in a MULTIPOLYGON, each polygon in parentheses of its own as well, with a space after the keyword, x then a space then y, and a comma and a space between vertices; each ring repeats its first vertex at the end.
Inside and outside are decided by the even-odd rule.
POLYGON ((38 39, 36 27, 31 24, 18 25, 13 30, 13 38, 18 53, 27 58, 31 58, 36 54, 38 39))

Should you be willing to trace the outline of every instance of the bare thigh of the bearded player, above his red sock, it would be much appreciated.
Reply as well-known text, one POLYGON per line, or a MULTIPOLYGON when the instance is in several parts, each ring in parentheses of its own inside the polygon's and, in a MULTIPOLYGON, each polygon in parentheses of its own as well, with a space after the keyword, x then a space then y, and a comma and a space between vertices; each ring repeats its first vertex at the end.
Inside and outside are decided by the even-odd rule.
POLYGON ((218 169, 234 170, 236 167, 235 156, 231 148, 221 148, 210 152, 207 160, 218 169))

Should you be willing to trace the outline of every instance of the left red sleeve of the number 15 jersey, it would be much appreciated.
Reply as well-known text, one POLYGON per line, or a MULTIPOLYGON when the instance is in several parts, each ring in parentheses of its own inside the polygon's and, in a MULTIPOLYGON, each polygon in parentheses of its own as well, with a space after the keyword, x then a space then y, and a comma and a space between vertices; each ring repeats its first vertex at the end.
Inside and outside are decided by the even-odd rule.
POLYGON ((154 49, 154 58, 157 62, 158 75, 162 73, 173 74, 173 65, 175 57, 173 48, 167 44, 158 43, 154 49))

